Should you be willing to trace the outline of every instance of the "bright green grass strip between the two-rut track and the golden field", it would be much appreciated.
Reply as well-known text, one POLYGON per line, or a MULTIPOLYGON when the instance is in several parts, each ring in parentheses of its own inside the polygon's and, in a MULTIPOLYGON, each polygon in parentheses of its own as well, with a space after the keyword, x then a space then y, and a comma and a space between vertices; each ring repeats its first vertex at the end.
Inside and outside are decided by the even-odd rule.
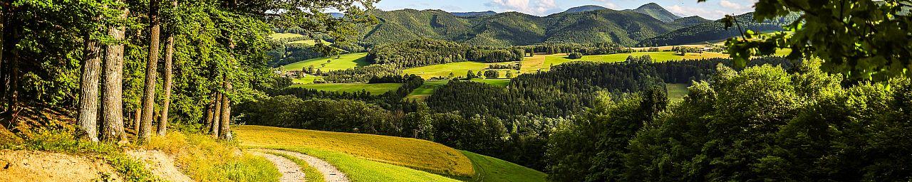
MULTIPOLYGON (((312 157, 317 157, 345 173, 349 180, 354 182, 458 182, 459 180, 444 177, 438 174, 421 171, 409 167, 400 167, 377 161, 371 158, 358 157, 332 150, 322 150, 307 147, 273 147, 288 151, 299 152, 312 157)), ((395 151, 389 151, 395 152, 395 151)))

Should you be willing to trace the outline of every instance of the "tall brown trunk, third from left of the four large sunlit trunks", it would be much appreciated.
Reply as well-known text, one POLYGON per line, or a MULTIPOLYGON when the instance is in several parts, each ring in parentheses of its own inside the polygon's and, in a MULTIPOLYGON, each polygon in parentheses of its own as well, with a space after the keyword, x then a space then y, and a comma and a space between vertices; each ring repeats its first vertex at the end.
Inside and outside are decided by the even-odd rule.
POLYGON ((159 19, 159 0, 149 1, 149 60, 146 62, 146 84, 142 95, 142 120, 140 121, 140 141, 149 141, 152 134, 152 117, 155 116, 155 79, 159 63, 159 41, 161 40, 161 20, 159 19))

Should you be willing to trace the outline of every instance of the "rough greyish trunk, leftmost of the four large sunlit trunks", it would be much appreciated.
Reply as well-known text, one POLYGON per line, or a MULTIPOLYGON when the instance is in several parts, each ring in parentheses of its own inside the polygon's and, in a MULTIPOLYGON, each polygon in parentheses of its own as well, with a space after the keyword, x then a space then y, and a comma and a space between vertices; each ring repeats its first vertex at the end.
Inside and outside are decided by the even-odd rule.
POLYGON ((98 74, 101 69, 101 44, 86 36, 85 56, 79 84, 79 128, 88 139, 98 142, 98 74))

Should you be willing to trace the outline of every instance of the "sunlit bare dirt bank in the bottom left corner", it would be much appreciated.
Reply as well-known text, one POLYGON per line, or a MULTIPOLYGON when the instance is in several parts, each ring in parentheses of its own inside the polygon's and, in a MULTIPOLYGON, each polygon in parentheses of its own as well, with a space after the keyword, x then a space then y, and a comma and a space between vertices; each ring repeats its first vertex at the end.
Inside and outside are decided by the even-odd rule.
POLYGON ((0 150, 0 181, 122 181, 108 163, 41 151, 0 150))

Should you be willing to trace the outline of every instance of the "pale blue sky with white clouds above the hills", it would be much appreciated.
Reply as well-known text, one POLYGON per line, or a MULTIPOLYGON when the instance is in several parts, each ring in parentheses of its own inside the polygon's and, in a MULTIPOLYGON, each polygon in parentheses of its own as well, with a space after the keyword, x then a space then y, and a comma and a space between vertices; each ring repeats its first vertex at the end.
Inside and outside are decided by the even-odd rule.
POLYGON ((441 9, 448 12, 515 11, 529 15, 551 15, 580 5, 601 5, 621 10, 656 3, 677 15, 700 15, 707 19, 719 19, 725 15, 751 12, 754 2, 756 0, 707 0, 703 3, 697 3, 697 0, 381 0, 376 6, 386 11, 410 8, 441 9))

